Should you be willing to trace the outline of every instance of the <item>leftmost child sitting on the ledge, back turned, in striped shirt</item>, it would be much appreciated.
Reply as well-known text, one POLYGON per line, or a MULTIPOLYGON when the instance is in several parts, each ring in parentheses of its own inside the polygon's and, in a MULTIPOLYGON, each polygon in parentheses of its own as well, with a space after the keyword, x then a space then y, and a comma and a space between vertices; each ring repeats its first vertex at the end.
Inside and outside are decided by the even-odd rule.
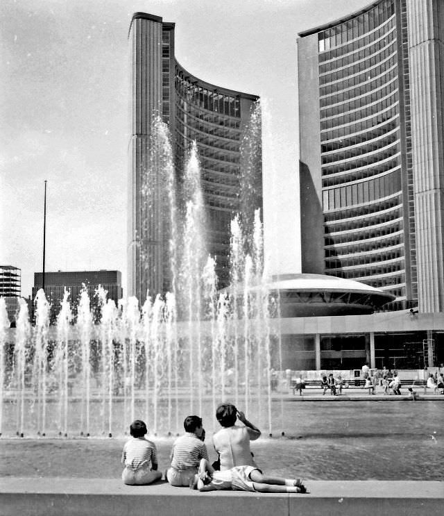
POLYGON ((125 443, 122 452, 122 463, 125 465, 122 480, 126 485, 151 484, 162 476, 157 471, 155 444, 145 439, 146 433, 146 424, 143 421, 136 419, 130 424, 132 438, 125 443))

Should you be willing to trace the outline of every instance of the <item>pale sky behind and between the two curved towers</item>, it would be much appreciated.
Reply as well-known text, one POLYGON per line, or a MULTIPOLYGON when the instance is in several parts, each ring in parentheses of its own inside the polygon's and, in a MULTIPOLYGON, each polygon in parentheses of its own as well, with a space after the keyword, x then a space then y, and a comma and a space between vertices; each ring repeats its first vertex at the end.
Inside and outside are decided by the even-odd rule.
POLYGON ((265 254, 300 272, 298 32, 368 0, 2 0, 0 264, 118 269, 126 288, 128 28, 143 11, 176 23, 191 74, 263 103, 265 254))

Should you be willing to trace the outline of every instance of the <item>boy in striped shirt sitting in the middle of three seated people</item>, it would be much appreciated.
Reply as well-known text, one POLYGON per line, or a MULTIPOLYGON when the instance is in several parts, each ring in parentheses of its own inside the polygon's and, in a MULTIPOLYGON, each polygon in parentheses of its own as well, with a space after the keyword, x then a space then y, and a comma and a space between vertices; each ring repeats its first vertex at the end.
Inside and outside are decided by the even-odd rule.
POLYGON ((200 459, 208 460, 207 447, 203 443, 205 430, 198 416, 185 417, 185 434, 181 435, 171 449, 171 467, 167 470, 167 480, 171 485, 186 485, 194 480, 200 459))

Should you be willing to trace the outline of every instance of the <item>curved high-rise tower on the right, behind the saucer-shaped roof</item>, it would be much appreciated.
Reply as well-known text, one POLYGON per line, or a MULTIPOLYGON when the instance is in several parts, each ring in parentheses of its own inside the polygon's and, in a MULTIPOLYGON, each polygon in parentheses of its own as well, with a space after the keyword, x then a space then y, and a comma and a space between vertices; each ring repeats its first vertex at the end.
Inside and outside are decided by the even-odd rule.
POLYGON ((299 34, 302 272, 444 310, 444 1, 299 34))

